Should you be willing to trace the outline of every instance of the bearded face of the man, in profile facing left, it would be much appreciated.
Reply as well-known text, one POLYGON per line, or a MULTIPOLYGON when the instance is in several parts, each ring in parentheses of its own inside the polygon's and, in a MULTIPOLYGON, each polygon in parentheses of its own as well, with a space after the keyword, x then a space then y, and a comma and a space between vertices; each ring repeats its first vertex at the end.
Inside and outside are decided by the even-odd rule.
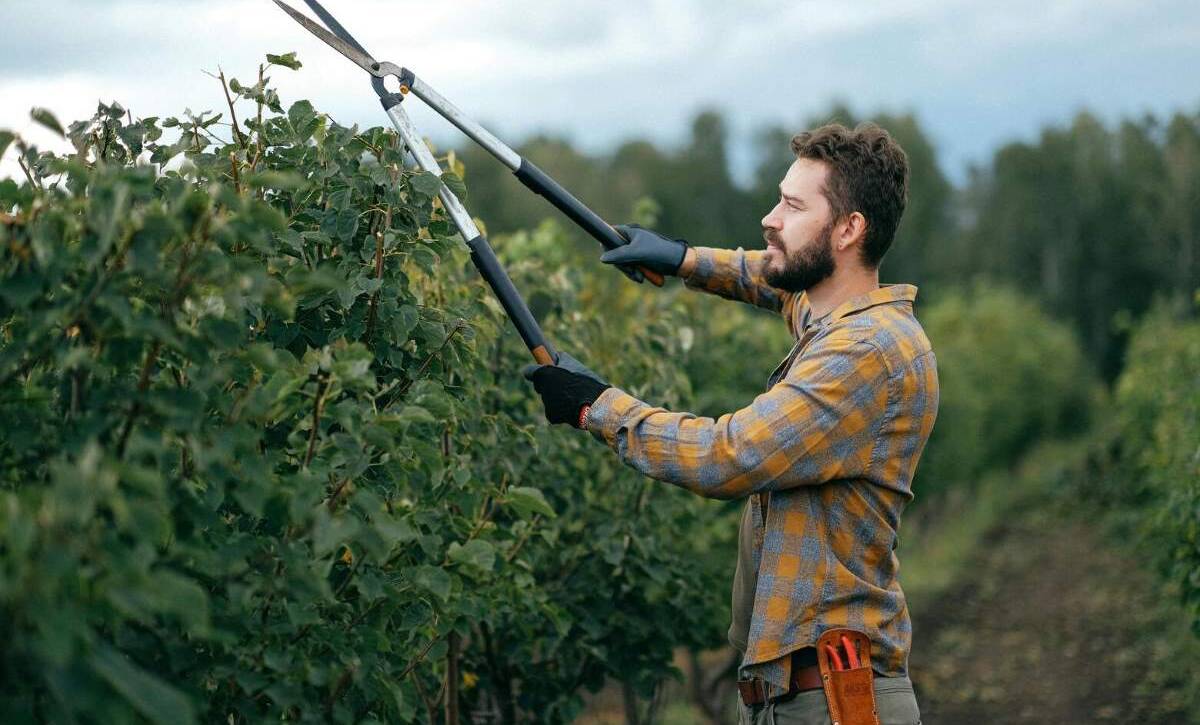
POLYGON ((833 258, 833 218, 822 190, 829 168, 797 158, 779 185, 779 203, 762 217, 767 241, 764 277, 772 287, 803 292, 826 280, 836 268, 833 258))

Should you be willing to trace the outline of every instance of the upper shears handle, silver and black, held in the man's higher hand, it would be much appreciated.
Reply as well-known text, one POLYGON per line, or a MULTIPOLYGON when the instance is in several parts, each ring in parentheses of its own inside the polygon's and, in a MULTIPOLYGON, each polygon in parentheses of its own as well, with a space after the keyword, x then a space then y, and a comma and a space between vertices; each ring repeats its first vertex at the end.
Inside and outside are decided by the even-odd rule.
MULTIPOLYGON (((487 128, 467 118, 454 103, 442 97, 427 83, 413 76, 412 72, 407 73, 406 82, 408 85, 401 88, 402 92, 406 92, 406 89, 410 90, 418 98, 425 101, 426 106, 438 112, 442 118, 454 124, 472 140, 482 146, 484 150, 506 166, 522 184, 536 194, 545 197, 554 208, 565 214, 568 218, 594 236, 596 241, 604 245, 605 250, 614 250, 626 244, 625 238, 600 218, 595 211, 592 211, 583 202, 576 199, 571 192, 563 188, 546 172, 496 138, 487 128)), ((659 272, 644 266, 635 269, 655 287, 662 287, 662 275, 659 272)))

